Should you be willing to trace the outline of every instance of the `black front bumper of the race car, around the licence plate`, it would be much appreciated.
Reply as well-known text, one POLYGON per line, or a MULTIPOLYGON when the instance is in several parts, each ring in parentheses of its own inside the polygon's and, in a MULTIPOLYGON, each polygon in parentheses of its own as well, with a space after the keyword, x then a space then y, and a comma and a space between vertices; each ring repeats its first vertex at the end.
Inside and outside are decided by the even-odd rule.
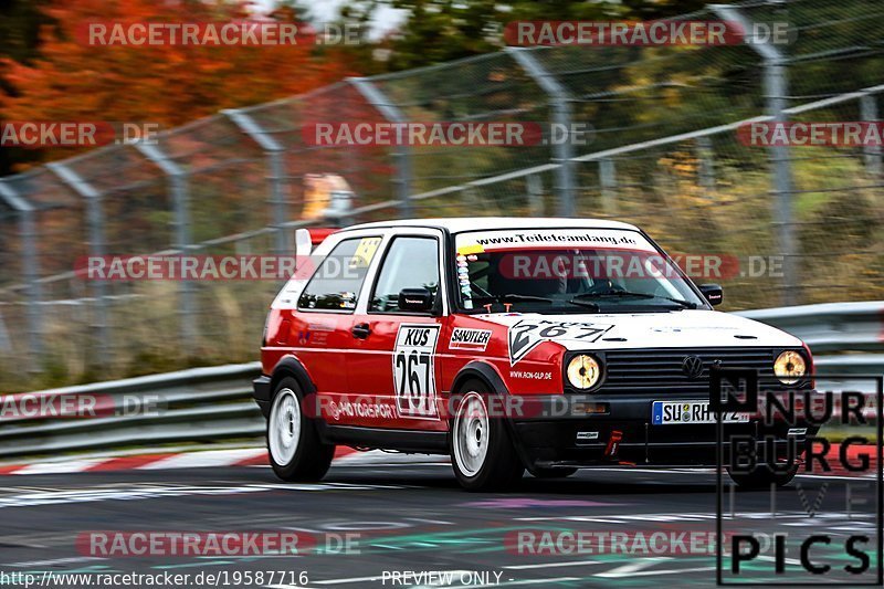
MULTIPOLYGON (((623 396, 549 396, 528 401, 530 411, 512 419, 516 443, 524 459, 536 467, 554 466, 715 466, 718 463, 717 424, 665 424, 651 422, 650 398, 623 396), (608 413, 576 414, 576 403, 607 403, 608 413)), ((676 399, 670 399, 676 400, 676 399)), ((698 400, 695 397, 677 400, 698 400)), ((723 425, 722 463, 730 460, 730 439, 750 439, 758 460, 764 461, 768 446, 778 459, 787 455, 789 440, 801 444, 819 428, 806 423, 778 422, 766 425, 750 418, 746 423, 723 425), (806 429, 790 434, 791 429, 806 429)), ((798 446, 799 451, 801 445, 798 446)))

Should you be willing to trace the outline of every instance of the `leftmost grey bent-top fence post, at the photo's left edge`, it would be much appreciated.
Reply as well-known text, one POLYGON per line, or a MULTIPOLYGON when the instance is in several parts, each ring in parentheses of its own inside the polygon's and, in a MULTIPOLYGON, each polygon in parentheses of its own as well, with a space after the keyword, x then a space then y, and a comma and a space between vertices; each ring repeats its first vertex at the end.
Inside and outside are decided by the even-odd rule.
MULTIPOLYGON (((28 295, 28 348, 31 357, 42 358, 43 351, 43 319, 40 313, 42 290, 40 287, 40 259, 36 255, 36 225, 34 223, 34 207, 11 186, 0 180, 0 198, 18 211, 19 234, 22 240, 22 278, 27 285, 28 295)), ((40 371, 40 362, 28 362, 30 372, 40 371)))

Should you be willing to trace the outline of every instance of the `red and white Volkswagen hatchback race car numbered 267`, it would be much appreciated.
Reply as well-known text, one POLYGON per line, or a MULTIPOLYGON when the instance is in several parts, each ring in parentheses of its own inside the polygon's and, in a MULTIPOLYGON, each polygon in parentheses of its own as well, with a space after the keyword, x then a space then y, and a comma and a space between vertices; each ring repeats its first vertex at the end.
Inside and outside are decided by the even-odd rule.
MULTIPOLYGON (((694 285, 630 224, 390 221, 304 253, 270 311, 254 381, 286 481, 322 478, 337 444, 450 454, 470 490, 525 469, 708 466, 711 368, 812 387, 807 346, 714 312, 722 288, 694 285)), ((720 419, 728 435, 794 433, 720 419)), ((785 484, 793 471, 732 476, 785 484)))

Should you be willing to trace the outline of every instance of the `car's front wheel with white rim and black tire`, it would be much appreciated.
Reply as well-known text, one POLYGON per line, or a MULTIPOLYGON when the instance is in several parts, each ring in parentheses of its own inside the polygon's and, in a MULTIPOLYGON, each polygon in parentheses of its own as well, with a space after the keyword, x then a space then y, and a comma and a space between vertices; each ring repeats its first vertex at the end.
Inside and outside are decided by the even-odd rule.
POLYGON ((451 423, 451 466, 467 491, 508 490, 522 478, 522 464, 503 417, 488 414, 488 388, 478 380, 461 387, 461 402, 451 423))

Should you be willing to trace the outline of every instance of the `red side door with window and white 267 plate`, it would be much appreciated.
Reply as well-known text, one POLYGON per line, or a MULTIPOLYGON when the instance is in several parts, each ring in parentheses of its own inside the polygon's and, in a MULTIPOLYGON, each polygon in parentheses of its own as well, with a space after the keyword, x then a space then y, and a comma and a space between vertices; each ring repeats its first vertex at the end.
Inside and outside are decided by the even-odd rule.
POLYGON ((436 349, 448 317, 442 281, 444 236, 432 229, 403 229, 390 235, 373 274, 370 295, 354 316, 347 362, 351 396, 371 406, 361 424, 378 428, 444 431, 441 419, 436 349), (404 312, 399 293, 427 288, 435 298, 431 312, 404 312))

